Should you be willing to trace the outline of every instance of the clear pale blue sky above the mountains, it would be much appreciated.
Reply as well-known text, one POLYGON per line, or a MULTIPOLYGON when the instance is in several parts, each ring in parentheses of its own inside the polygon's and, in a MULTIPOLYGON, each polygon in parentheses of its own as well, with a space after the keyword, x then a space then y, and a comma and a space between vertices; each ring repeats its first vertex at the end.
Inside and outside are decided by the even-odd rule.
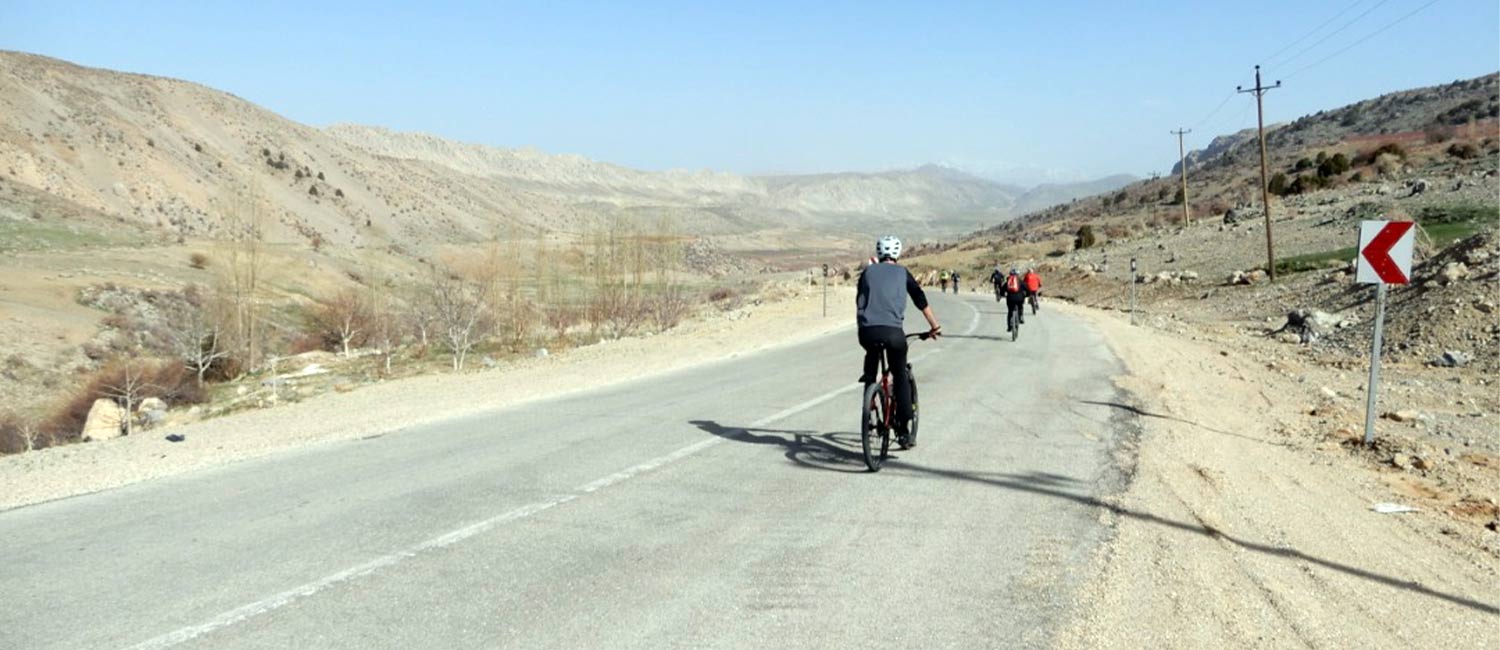
POLYGON ((1272 122, 1500 69, 1500 3, 1440 0, 1298 72, 1426 3, 0 0, 0 48, 651 170, 1102 176, 1254 125, 1248 95, 1203 120, 1256 63, 1286 80, 1272 122))

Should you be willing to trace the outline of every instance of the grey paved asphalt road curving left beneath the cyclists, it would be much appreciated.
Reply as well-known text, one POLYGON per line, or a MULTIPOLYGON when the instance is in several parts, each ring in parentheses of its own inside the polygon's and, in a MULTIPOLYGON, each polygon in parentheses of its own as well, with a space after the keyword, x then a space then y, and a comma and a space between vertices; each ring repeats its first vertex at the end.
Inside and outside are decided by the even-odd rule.
POLYGON ((878 474, 846 330, 0 513, 0 647, 1044 644, 1106 534, 1119 365, 1056 311, 1012 344, 982 294, 934 306, 878 474))

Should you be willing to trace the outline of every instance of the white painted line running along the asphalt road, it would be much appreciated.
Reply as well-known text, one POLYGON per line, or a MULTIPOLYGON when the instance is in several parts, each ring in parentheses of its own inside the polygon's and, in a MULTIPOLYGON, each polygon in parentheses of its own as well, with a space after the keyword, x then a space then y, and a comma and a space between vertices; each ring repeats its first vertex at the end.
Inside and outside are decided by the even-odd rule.
MULTIPOLYGON (((975 315, 978 315, 978 312, 975 312, 975 315)), ((970 327, 970 330, 972 329, 974 327, 970 327)), ((756 426, 765 426, 765 425, 774 423, 774 422, 782 420, 784 417, 790 417, 790 416, 798 414, 801 411, 806 411, 808 408, 813 408, 813 407, 818 407, 820 404, 825 404, 825 402, 828 402, 828 401, 831 401, 831 399, 834 399, 834 398, 837 398, 837 396, 840 396, 843 393, 848 393, 848 392, 860 389, 860 387, 861 387, 860 384, 848 384, 844 387, 830 390, 830 392, 826 392, 824 395, 819 395, 819 396, 816 396, 813 399, 801 402, 801 404, 798 404, 795 407, 784 408, 782 411, 772 413, 771 416, 766 416, 766 417, 762 417, 759 420, 754 420, 754 422, 750 423, 750 426, 756 428, 756 426)), ((274 609, 280 609, 280 608, 284 608, 286 605, 291 605, 292 602, 302 600, 304 597, 309 597, 309 596, 312 596, 312 594, 315 594, 318 591, 327 590, 330 587, 336 587, 339 584, 350 582, 350 581, 354 581, 354 579, 372 575, 372 573, 375 573, 375 572, 378 572, 381 569, 399 564, 399 563, 402 563, 405 560, 410 560, 412 557, 417 557, 417 555, 420 555, 423 552, 435 551, 435 549, 440 549, 440 548, 444 548, 444 546, 452 546, 452 545, 459 543, 459 542, 462 542, 465 539, 470 539, 470 537, 472 537, 476 534, 480 534, 480 533, 483 533, 486 530, 490 530, 490 528, 494 528, 496 525, 513 522, 513 521, 519 521, 519 519, 525 519, 525 518, 528 518, 531 515, 536 515, 538 512, 549 510, 552 507, 561 506, 564 503, 568 503, 568 501, 572 501, 574 498, 579 498, 579 497, 584 497, 586 494, 597 492, 597 491, 604 489, 604 488, 608 488, 610 485, 630 480, 630 479, 633 479, 636 476, 640 476, 640 474, 648 473, 651 470, 660 468, 660 467, 668 465, 670 462, 681 461, 682 458, 692 456, 692 455, 694 455, 698 452, 702 452, 704 449, 712 447, 714 444, 718 444, 718 443, 723 443, 723 441, 724 441, 724 438, 717 438, 716 437, 716 438, 708 438, 708 440, 702 440, 702 441, 688 444, 688 446, 686 446, 682 449, 678 449, 678 450, 675 450, 672 453, 668 453, 664 456, 658 456, 658 458, 645 461, 645 462, 642 462, 639 465, 633 465, 630 468, 626 468, 626 470, 616 471, 614 474, 604 476, 604 477, 602 477, 598 480, 592 480, 592 482, 584 483, 573 494, 562 494, 562 495, 549 498, 546 501, 537 501, 537 503, 532 503, 532 504, 528 504, 528 506, 520 506, 520 507, 518 507, 514 510, 507 510, 507 512, 495 515, 495 516, 492 516, 489 519, 477 521, 477 522, 465 525, 462 528, 458 528, 458 530, 440 534, 436 537, 432 537, 432 539, 429 539, 426 542, 420 542, 420 543, 408 546, 405 549, 400 549, 400 551, 396 551, 396 552, 392 552, 392 554, 387 554, 387 555, 376 557, 376 558, 374 558, 370 561, 366 561, 363 564, 351 566, 351 567, 344 569, 344 570, 340 570, 338 573, 333 573, 333 575, 328 575, 328 576, 324 576, 324 578, 318 578, 318 579, 315 579, 312 582, 308 582, 308 584, 303 584, 303 585, 298 585, 298 587, 292 587, 292 588, 290 588, 286 591, 280 591, 278 594, 273 594, 270 597, 252 602, 249 605, 243 605, 243 606, 230 609, 230 611, 226 611, 224 614, 219 614, 219 615, 210 618, 206 623, 189 626, 189 627, 182 627, 182 629, 164 633, 160 636, 142 641, 140 644, 130 645, 129 650, 160 650, 160 648, 168 648, 168 647, 172 647, 172 645, 178 645, 178 644, 192 641, 192 639, 195 639, 198 636, 202 636, 206 633, 210 633, 210 632, 214 632, 214 630, 232 626, 236 623, 240 623, 240 621, 258 617, 261 614, 267 614, 267 612, 274 611, 274 609)))

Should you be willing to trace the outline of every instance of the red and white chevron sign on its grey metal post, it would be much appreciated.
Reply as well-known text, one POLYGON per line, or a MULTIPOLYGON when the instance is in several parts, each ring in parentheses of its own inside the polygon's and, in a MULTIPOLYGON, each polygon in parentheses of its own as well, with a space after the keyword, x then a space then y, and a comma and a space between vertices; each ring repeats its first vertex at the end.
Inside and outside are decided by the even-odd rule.
POLYGON ((1386 329, 1386 285, 1412 281, 1414 222, 1360 221, 1354 281, 1376 285, 1376 332, 1370 339, 1370 381, 1365 383, 1365 446, 1376 443, 1376 401, 1380 395, 1380 344, 1386 329))

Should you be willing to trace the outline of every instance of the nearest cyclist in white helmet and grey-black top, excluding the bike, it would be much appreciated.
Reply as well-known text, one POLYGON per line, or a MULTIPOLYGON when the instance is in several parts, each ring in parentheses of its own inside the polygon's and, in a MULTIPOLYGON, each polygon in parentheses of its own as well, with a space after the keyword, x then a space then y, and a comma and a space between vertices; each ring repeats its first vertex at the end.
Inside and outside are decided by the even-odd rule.
POLYGON ((912 384, 906 378, 906 299, 910 297, 912 305, 922 311, 932 327, 927 330, 930 335, 939 335, 942 326, 927 305, 927 294, 916 284, 916 278, 896 263, 902 257, 902 240, 891 236, 880 237, 874 242, 874 255, 880 263, 860 273, 855 293, 860 347, 864 348, 864 375, 860 377, 860 383, 879 380, 876 371, 880 353, 885 351, 885 363, 891 369, 896 392, 896 440, 903 447, 910 447, 915 441, 906 431, 906 423, 912 419, 912 384))

